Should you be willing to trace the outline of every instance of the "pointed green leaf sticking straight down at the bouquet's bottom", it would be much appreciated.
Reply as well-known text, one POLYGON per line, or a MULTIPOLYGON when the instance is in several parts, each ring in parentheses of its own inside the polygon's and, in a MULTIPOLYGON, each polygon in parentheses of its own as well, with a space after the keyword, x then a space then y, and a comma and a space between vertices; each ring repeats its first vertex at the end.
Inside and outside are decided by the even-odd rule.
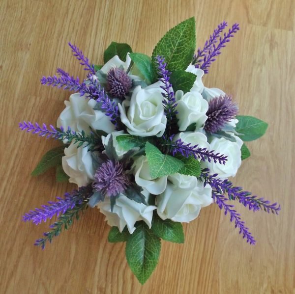
POLYGON ((126 242, 126 259, 132 272, 141 284, 144 284, 155 267, 161 251, 161 241, 140 221, 136 230, 128 236, 126 242))

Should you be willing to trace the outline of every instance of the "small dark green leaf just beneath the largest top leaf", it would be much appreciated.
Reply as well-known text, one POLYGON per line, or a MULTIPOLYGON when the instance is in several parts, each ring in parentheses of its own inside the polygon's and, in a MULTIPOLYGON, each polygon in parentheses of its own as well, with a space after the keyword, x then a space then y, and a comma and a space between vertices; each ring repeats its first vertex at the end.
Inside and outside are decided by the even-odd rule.
POLYGON ((170 82, 172 84, 174 92, 177 90, 182 90, 185 94, 189 92, 197 76, 182 70, 175 71, 170 76, 170 82))

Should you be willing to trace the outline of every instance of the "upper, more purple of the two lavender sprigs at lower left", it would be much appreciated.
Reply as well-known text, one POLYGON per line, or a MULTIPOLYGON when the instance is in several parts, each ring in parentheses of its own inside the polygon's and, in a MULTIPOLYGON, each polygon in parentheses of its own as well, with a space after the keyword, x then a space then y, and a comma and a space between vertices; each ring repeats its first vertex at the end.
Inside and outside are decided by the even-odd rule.
POLYGON ((72 210, 76 205, 81 205, 82 202, 91 195, 91 185, 87 187, 79 187, 78 190, 73 190, 70 193, 65 193, 64 198, 57 197, 58 201, 49 201, 49 205, 42 205, 42 208, 36 208, 34 211, 23 216, 24 221, 32 221, 38 225, 42 221, 51 219, 54 215, 64 214, 67 210, 72 210))

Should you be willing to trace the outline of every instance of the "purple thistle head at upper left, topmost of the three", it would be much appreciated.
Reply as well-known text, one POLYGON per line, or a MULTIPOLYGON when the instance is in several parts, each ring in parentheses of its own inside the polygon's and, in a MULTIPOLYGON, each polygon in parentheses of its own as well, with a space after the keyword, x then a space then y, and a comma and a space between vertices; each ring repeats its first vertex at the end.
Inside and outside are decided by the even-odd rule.
POLYGON ((128 94, 132 81, 123 69, 111 68, 107 75, 107 90, 117 98, 128 94))

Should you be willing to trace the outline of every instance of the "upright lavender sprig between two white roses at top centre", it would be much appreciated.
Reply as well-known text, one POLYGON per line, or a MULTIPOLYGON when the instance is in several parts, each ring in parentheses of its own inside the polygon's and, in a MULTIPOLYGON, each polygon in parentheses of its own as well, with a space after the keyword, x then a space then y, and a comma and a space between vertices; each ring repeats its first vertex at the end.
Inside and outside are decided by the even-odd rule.
POLYGON ((164 86, 160 86, 164 90, 164 93, 162 93, 162 96, 164 97, 162 103, 164 106, 164 113, 167 117, 167 126, 170 130, 169 134, 171 134, 171 131, 177 127, 177 103, 175 99, 175 94, 172 88, 172 84, 169 81, 169 76, 171 73, 166 69, 167 63, 165 62, 165 58, 162 56, 156 56, 155 57, 156 63, 158 65, 158 78, 159 81, 163 82, 164 86))

